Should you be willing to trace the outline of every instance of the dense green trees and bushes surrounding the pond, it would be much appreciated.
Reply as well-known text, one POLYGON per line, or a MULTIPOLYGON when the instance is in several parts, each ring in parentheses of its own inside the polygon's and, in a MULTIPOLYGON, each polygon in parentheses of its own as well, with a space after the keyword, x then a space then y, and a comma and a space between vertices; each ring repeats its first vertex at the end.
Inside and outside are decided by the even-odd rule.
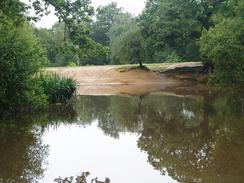
POLYGON ((116 3, 29 2, 0 1, 1 109, 52 101, 34 77, 45 66, 202 61, 213 83, 244 85, 243 0, 148 0, 137 17, 116 3), (50 6, 59 21, 36 28, 50 6))

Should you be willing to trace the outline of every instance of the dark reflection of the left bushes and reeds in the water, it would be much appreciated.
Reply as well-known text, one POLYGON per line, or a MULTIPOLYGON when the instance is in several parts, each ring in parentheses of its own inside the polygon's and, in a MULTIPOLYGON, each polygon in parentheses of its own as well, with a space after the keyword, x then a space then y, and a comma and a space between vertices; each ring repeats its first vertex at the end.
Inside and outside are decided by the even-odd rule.
POLYGON ((0 183, 35 183, 44 173, 48 146, 42 135, 50 125, 71 123, 71 106, 53 106, 36 115, 0 121, 0 183))

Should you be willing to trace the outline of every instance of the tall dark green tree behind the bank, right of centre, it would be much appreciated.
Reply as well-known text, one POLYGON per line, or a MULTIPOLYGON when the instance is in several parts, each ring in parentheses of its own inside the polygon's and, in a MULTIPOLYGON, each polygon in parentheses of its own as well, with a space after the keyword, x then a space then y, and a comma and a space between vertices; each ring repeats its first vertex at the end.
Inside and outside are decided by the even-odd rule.
POLYGON ((149 0, 139 21, 147 60, 164 62, 172 55, 198 60, 202 31, 198 13, 197 1, 149 0))

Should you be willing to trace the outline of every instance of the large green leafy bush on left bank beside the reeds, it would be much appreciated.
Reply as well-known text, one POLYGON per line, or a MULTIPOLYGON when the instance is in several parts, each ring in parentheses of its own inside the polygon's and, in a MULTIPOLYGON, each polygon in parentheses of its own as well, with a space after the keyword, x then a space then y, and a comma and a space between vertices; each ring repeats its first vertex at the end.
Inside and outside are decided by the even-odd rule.
POLYGON ((0 11, 0 108, 21 111, 38 107, 46 97, 33 75, 46 63, 45 52, 25 23, 18 26, 0 11))

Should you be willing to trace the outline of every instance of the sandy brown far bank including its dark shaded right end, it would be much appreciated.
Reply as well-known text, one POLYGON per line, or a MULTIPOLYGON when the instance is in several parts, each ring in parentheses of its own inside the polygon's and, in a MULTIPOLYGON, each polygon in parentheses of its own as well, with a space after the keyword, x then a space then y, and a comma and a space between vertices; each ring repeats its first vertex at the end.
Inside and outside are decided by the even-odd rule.
POLYGON ((195 75, 199 68, 199 65, 190 68, 184 65, 167 72, 138 68, 121 72, 118 66, 85 66, 48 68, 47 71, 74 78, 79 85, 77 95, 146 95, 158 91, 204 91, 203 75, 195 75))

